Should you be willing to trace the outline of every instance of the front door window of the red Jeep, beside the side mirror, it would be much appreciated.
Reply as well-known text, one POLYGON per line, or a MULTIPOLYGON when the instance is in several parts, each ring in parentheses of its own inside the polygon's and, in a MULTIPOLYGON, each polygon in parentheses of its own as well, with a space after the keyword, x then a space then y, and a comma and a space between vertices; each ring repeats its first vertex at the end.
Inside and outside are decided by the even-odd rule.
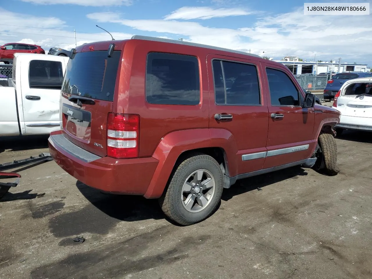
POLYGON ((291 78, 282 71, 267 68, 272 106, 299 106, 299 92, 291 78))

